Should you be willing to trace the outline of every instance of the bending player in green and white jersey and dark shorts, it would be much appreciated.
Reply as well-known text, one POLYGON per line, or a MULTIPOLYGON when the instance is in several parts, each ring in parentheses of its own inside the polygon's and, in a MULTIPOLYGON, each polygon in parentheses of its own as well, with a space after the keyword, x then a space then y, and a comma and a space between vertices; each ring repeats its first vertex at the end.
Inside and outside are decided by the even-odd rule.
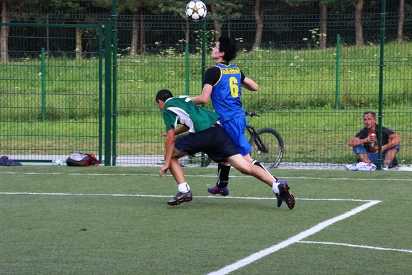
POLYGON ((275 194, 286 201, 288 208, 295 207, 295 197, 289 192, 287 182, 274 181, 266 170, 247 162, 240 155, 229 135, 222 129, 216 113, 196 106, 190 98, 173 98, 172 93, 166 89, 157 93, 156 102, 162 111, 166 126, 165 164, 161 166, 159 175, 161 177, 163 173, 170 170, 179 190, 177 195, 168 201, 170 206, 192 201, 192 191, 178 159, 203 151, 215 162, 229 162, 241 173, 264 181, 271 186, 275 194), (178 123, 181 126, 176 129, 178 123), (174 135, 185 131, 189 131, 190 134, 175 143, 174 135))

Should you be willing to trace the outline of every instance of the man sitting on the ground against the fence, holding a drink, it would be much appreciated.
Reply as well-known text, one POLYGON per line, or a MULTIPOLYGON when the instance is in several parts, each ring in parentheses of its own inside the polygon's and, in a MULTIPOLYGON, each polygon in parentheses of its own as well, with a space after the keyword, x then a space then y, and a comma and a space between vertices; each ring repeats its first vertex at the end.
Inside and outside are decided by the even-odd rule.
MULTIPOLYGON (((363 113, 363 128, 349 141, 349 146, 354 147, 354 153, 361 162, 378 165, 378 129, 376 115, 373 111, 363 113)), ((382 126, 382 170, 388 170, 393 165, 393 159, 400 149, 400 137, 391 129, 382 126)))

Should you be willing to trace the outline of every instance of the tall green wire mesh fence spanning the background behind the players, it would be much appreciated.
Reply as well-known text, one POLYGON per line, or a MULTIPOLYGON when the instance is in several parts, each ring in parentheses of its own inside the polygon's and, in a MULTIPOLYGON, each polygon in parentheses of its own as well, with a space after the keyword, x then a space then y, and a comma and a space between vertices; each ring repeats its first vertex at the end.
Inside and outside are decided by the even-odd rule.
MULTIPOLYGON (((1 155, 23 154, 26 160, 41 160, 47 157, 39 155, 52 159, 74 151, 98 154, 102 152, 98 138, 103 138, 99 126, 111 126, 112 120, 112 139, 104 136, 103 142, 111 144, 107 145, 111 148, 103 149, 106 157, 113 158, 113 164, 160 164, 160 133, 164 127, 155 94, 163 88, 176 96, 201 94, 204 69, 214 65, 209 58, 210 47, 222 34, 238 41, 240 53, 233 63, 260 85, 259 91, 244 91, 242 95, 244 109, 260 114, 260 118, 251 119, 251 124, 255 128, 272 127, 283 136, 285 153, 279 168, 342 167, 341 164, 356 160, 347 142, 363 128, 363 111, 380 110, 380 38, 385 19, 382 124, 402 137, 398 161, 412 162, 410 10, 404 12, 399 36, 400 12, 393 3, 387 5, 388 12, 380 14, 380 5, 366 1, 360 32, 351 8, 336 12, 339 7, 330 4, 326 7, 328 12, 322 14, 319 1, 295 1, 293 5, 290 1, 260 1, 261 21, 250 12, 255 1, 233 1, 242 7, 232 7, 232 12, 227 12, 223 3, 207 1, 209 14, 202 32, 202 23, 188 23, 180 15, 185 5, 181 1, 174 1, 169 8, 165 8, 168 1, 119 1, 119 5, 111 1, 69 2, 79 4, 82 12, 38 12, 30 20, 74 23, 78 28, 53 28, 47 32, 44 27, 32 25, 30 29, 10 31, 10 59, 1 62, 0 71, 1 155), (114 12, 113 6, 117 9, 114 12), (98 83, 102 80, 98 78, 97 45, 104 35, 97 33, 98 28, 84 24, 102 24, 107 18, 113 19, 115 37, 113 81, 106 83, 111 85, 113 104, 106 102, 106 109, 111 110, 105 109, 106 120, 101 118, 99 124, 98 83), (205 67, 202 34, 207 49, 205 67), (41 72, 42 48, 49 64, 46 66, 52 66, 46 67, 47 72, 54 72, 46 74, 45 79, 46 89, 50 89, 46 94, 54 93, 56 98, 55 102, 48 101, 48 109, 62 116, 59 124, 49 124, 47 133, 41 133, 42 128, 27 132, 25 119, 30 125, 41 120, 42 81, 37 74, 41 72), (14 88, 23 85, 38 97, 34 108, 37 115, 33 118, 16 115, 30 113, 34 107, 22 109, 25 105, 12 100, 25 98, 24 91, 14 88), (70 114, 74 110, 78 115, 70 114), (33 150, 37 143, 44 144, 42 150, 33 150)), ((27 21, 22 14, 16 20, 27 21)), ((46 115, 45 120, 49 118, 52 116, 46 115)))

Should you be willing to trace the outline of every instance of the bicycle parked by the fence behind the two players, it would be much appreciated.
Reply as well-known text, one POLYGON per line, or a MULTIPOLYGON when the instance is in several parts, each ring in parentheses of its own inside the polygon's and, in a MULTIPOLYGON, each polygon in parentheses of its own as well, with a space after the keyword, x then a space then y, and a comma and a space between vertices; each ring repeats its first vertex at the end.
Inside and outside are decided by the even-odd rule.
MULTIPOLYGON (((245 115, 253 118, 254 116, 259 117, 257 113, 244 112, 245 115)), ((249 121, 246 126, 247 132, 249 133, 249 144, 252 146, 251 157, 257 159, 265 168, 276 168, 282 161, 284 154, 284 141, 282 135, 279 134, 275 129, 272 128, 261 128, 258 131, 255 130, 249 121)), ((185 133, 183 135, 178 135, 176 140, 183 137, 184 135, 189 135, 185 133)), ((205 167, 211 164, 212 159, 205 156, 205 167)), ((201 154, 188 155, 185 158, 179 159, 181 166, 185 164, 192 164, 196 166, 201 165, 201 154)))

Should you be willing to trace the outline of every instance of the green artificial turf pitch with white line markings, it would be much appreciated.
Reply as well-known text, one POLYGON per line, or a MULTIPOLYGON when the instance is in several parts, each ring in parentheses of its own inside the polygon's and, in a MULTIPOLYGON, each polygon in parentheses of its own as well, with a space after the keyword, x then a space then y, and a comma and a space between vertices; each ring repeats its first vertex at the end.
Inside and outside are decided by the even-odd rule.
POLYGON ((408 274, 408 172, 272 170, 295 209, 231 171, 185 168, 180 206, 159 168, 0 166, 1 274, 408 274))

